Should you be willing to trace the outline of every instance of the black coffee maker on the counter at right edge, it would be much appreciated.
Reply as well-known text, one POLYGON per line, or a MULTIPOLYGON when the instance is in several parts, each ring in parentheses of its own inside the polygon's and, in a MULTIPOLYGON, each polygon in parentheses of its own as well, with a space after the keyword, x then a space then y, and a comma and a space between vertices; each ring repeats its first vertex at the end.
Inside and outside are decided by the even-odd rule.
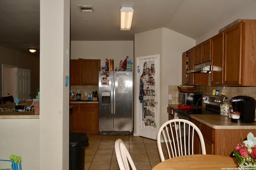
POLYGON ((249 96, 233 97, 232 102, 233 111, 240 112, 239 119, 232 119, 235 123, 254 123, 256 100, 249 96))

